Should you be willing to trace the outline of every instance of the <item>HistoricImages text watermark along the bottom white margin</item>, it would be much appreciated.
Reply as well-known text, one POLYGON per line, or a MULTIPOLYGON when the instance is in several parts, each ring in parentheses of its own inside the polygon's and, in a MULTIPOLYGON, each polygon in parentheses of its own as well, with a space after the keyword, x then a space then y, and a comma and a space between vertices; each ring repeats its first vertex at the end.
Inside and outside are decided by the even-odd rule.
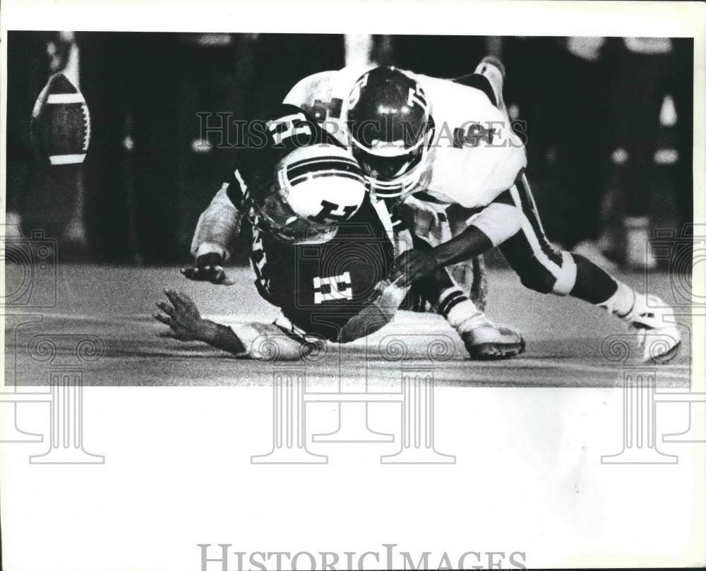
POLYGON ((268 569, 352 571, 356 569, 527 569, 525 551, 465 551, 433 553, 402 551, 397 543, 359 553, 357 551, 237 551, 231 543, 197 543, 201 571, 268 569), (374 565, 374 567, 373 567, 374 565))

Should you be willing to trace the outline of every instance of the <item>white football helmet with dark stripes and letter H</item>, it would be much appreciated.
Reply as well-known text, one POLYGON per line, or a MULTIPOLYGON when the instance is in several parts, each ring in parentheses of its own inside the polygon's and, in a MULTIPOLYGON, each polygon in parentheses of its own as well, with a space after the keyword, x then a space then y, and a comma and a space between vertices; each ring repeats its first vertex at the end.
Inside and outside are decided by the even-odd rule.
POLYGON ((246 193, 249 220, 285 241, 333 238, 360 208, 366 181, 344 148, 316 144, 293 150, 275 172, 258 176, 246 193), (274 177, 272 176, 274 174, 274 177))

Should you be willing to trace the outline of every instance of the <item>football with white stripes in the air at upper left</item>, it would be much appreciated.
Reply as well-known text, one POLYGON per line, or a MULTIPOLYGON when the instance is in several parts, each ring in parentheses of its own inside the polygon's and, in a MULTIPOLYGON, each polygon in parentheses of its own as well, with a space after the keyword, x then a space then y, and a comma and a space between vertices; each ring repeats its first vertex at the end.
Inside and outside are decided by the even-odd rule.
POLYGON ((44 86, 32 110, 32 145, 52 178, 66 184, 76 176, 90 143, 90 115, 81 92, 63 73, 44 86))

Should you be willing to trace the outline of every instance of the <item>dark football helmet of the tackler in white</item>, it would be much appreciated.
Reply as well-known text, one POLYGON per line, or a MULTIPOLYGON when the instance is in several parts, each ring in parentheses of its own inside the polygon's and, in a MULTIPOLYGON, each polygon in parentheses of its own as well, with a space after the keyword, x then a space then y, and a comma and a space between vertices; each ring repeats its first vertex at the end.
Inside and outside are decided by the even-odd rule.
POLYGON ((397 68, 374 68, 355 83, 346 122, 353 155, 376 196, 412 192, 433 136, 431 108, 421 85, 397 68))

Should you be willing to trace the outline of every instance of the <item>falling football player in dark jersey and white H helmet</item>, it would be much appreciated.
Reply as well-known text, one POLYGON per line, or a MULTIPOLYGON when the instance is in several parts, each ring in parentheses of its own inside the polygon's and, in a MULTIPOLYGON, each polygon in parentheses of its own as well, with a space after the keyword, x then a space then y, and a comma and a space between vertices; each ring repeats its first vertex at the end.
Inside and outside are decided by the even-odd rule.
MULTIPOLYGON (((237 356, 295 359, 326 341, 347 342, 392 318, 406 289, 387 280, 395 248, 370 203, 363 173, 315 121, 282 106, 249 124, 238 169, 203 212, 193 239, 192 280, 231 284, 222 268, 239 232, 249 235, 255 284, 280 308, 274 323, 226 327, 204 320, 185 294, 155 319, 183 341, 237 356)), ((388 227, 390 226, 388 222, 388 227)))

